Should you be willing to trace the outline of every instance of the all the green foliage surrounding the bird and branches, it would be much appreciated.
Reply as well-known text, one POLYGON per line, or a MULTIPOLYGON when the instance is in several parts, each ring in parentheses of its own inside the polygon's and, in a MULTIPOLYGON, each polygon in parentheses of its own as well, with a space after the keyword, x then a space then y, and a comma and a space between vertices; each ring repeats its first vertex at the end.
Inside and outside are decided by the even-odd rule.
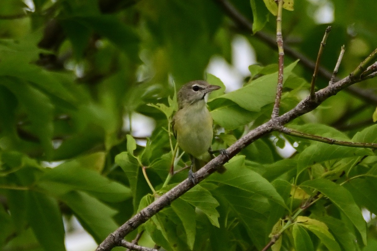
MULTIPOLYGON (((174 160, 170 132, 175 88, 187 81, 206 78, 223 87, 208 102, 213 149, 270 118, 276 46, 238 27, 220 2, 34 0, 32 11, 18 0, 0 3, 2 250, 64 251, 63 218, 71 216, 100 243, 187 178, 185 170, 169 174, 172 164, 176 171, 189 164, 186 155, 174 160), (215 55, 231 63, 231 42, 240 35, 259 65, 249 67, 241 89, 222 94, 224 84, 206 67, 215 55), (136 113, 155 121, 139 145, 132 137, 137 129, 125 126, 136 113)), ((274 1, 230 2, 254 21, 253 32, 274 37, 274 1)), ((284 8, 292 10, 291 3, 284 8)), ((315 21, 323 6, 334 9, 335 21, 322 66, 332 71, 345 44, 338 76, 346 76, 377 47, 377 2, 296 1, 293 11, 284 10, 284 43, 311 60, 327 26, 315 21)), ((308 95, 311 74, 286 55, 280 114, 308 95)), ((318 78, 317 87, 327 83, 318 78)), ((375 100, 344 91, 288 127, 376 143, 375 100)), ((261 250, 280 232, 273 250, 375 250, 376 221, 365 222, 362 210, 377 214, 376 163, 369 148, 267 135, 126 239, 144 230, 139 245, 168 251, 261 250), (280 148, 288 144, 295 153, 283 158, 280 148)))

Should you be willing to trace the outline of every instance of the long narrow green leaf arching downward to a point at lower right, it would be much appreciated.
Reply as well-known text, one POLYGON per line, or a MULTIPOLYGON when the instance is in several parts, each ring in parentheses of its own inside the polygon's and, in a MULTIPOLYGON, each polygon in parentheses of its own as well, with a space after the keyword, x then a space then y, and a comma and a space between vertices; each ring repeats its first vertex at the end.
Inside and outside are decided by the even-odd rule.
POLYGON ((301 187, 310 187, 320 191, 354 224, 359 231, 363 243, 366 243, 366 224, 360 208, 356 205, 351 193, 344 187, 326 179, 305 181, 301 187))

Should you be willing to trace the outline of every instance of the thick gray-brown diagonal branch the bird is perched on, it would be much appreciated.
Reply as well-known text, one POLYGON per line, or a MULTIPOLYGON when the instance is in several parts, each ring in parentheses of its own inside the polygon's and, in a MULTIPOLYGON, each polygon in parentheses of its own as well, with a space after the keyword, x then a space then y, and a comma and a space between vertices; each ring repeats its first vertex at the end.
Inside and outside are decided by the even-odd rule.
MULTIPOLYGON (((227 162, 230 158, 233 158, 233 156, 235 156, 243 148, 247 147, 255 140, 270 132, 279 131, 281 127, 288 122, 314 110, 319 106, 320 103, 325 101, 330 96, 336 95, 336 93, 359 81, 361 80, 347 76, 342 80, 339 80, 336 83, 314 93, 314 100, 316 102, 314 102, 310 98, 310 96, 308 96, 289 112, 284 113, 279 117, 271 118, 269 121, 265 122, 261 126, 256 127, 255 129, 248 132, 245 136, 238 139, 238 141, 236 141, 233 145, 226 149, 228 153, 227 156, 221 154, 212 159, 210 162, 208 162, 208 164, 206 164, 204 167, 193 174, 192 180, 195 180, 198 183, 201 182, 211 173, 215 172, 220 165, 225 164, 225 162, 227 162)), ((167 193, 163 194, 161 197, 156 198, 156 200, 153 201, 149 206, 140 210, 135 216, 127 220, 127 222, 125 222, 117 230, 106 237, 106 239, 97 247, 96 251, 109 251, 110 249, 115 247, 120 242, 120 240, 123 240, 124 236, 135 230, 139 225, 146 222, 160 210, 167 207, 170 203, 173 202, 173 200, 177 199, 179 196, 190 190, 190 188, 194 187, 195 184, 193 184, 192 180, 187 178, 180 184, 173 187, 171 190, 167 191, 167 193)))

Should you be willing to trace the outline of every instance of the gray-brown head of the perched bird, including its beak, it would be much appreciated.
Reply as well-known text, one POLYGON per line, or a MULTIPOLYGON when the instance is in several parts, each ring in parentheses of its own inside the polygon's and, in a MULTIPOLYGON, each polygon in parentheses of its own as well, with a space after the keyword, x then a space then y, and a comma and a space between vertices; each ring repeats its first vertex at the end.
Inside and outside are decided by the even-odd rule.
POLYGON ((203 80, 194 80, 182 86, 178 92, 178 108, 194 104, 203 100, 207 93, 220 89, 220 86, 213 86, 203 80))

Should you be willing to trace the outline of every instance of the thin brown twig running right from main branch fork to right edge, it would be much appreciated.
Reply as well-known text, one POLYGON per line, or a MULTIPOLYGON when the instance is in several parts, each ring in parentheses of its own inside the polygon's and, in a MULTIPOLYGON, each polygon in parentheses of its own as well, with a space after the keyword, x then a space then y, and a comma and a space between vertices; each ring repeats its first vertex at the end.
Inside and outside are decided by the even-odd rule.
POLYGON ((295 136, 295 137, 298 137, 298 138, 311 139, 311 140, 314 140, 314 141, 319 141, 319 142, 327 143, 327 144, 330 144, 330 145, 343 145, 343 146, 348 146, 348 147, 377 149, 377 144, 375 144, 375 143, 341 141, 341 140, 337 140, 337 139, 331 139, 331 138, 316 136, 316 135, 313 135, 313 134, 298 132, 298 131, 295 131, 295 130, 291 130, 287 127, 282 127, 280 129, 280 132, 285 133, 287 135, 295 136))

